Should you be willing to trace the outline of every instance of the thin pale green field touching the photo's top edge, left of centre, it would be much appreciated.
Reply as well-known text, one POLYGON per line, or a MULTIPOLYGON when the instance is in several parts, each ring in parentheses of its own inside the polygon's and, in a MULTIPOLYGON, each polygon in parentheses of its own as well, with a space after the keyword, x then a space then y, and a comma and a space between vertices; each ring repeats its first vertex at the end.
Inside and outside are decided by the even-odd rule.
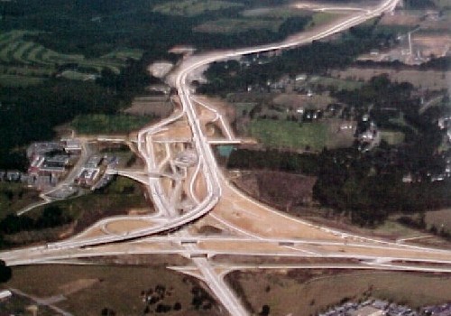
POLYGON ((224 10, 243 5, 219 0, 170 1, 153 7, 154 12, 169 15, 196 16, 210 11, 224 10))

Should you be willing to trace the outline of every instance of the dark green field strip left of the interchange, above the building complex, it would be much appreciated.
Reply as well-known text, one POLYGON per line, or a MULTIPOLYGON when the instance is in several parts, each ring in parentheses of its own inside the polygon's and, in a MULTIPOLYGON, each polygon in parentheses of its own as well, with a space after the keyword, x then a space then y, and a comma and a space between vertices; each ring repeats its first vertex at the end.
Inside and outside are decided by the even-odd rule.
POLYGON ((150 116, 93 114, 77 116, 71 125, 80 134, 115 134, 129 133, 150 124, 151 121, 150 116))

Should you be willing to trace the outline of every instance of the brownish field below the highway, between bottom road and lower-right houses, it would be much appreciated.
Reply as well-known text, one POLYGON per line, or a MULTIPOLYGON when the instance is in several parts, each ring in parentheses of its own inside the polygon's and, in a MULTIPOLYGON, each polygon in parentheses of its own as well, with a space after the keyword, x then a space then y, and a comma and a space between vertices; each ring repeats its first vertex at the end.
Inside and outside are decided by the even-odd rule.
POLYGON ((240 288, 253 311, 267 304, 273 315, 316 314, 343 300, 368 297, 414 308, 447 302, 451 297, 451 276, 446 274, 284 270, 235 272, 227 279, 240 288))

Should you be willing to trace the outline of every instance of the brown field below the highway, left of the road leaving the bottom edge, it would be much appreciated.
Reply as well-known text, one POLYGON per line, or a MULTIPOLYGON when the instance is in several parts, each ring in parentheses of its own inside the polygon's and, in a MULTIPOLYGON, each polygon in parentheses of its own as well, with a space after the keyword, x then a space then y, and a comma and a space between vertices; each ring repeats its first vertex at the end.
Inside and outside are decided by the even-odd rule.
MULTIPOLYGON (((111 266, 111 265, 39 265, 20 266, 13 269, 13 278, 5 287, 14 287, 24 293, 40 298, 64 295, 55 303, 65 311, 76 315, 100 315, 104 308, 115 311, 115 315, 141 315, 146 308, 143 292, 157 285, 164 287, 164 298, 150 304, 154 311, 159 303, 170 305, 166 315, 189 315, 195 309, 191 305, 193 289, 198 283, 191 278, 158 266, 111 266), (181 309, 173 311, 179 302, 181 309)), ((203 293, 203 290, 200 290, 203 293)), ((156 296, 156 295, 155 295, 156 296)), ((204 302, 207 304, 207 302, 204 302)), ((215 306, 196 311, 196 315, 219 315, 215 306)))

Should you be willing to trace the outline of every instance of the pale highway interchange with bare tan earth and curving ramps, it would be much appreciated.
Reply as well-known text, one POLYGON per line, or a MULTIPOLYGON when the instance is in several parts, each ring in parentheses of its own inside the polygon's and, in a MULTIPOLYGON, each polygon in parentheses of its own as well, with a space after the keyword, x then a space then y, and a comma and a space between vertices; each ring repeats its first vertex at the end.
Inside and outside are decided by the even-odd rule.
POLYGON ((212 51, 192 55, 170 79, 177 88, 174 114, 141 130, 133 139, 145 163, 143 171, 112 171, 141 181, 152 197, 156 212, 150 216, 100 220, 67 240, 6 251, 7 265, 72 262, 96 256, 170 254, 185 256, 193 265, 173 266, 207 283, 231 315, 247 315, 240 299, 224 277, 244 269, 382 269, 451 273, 451 252, 444 249, 395 243, 355 236, 313 225, 281 214, 250 199, 226 180, 216 164, 211 144, 239 143, 225 116, 192 95, 189 74, 211 62, 262 51, 290 49, 342 32, 391 12, 398 0, 384 0, 376 7, 349 10, 352 14, 333 25, 291 36, 286 41, 259 47, 212 51), (207 135, 207 125, 224 135, 207 135), (213 226, 225 234, 206 236, 199 227, 213 226), (216 260, 216 256, 296 258, 299 263, 243 264, 216 260), (311 264, 305 258, 336 260, 311 264))

